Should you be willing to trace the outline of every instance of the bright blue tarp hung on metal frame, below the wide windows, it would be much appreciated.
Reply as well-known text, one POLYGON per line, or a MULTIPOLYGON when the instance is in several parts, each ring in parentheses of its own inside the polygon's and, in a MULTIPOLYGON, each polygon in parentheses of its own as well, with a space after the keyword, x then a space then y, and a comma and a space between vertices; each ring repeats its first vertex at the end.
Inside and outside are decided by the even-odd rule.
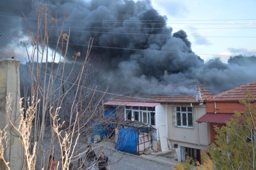
POLYGON ((137 154, 138 130, 135 128, 121 128, 118 134, 116 149, 130 154, 137 154))

